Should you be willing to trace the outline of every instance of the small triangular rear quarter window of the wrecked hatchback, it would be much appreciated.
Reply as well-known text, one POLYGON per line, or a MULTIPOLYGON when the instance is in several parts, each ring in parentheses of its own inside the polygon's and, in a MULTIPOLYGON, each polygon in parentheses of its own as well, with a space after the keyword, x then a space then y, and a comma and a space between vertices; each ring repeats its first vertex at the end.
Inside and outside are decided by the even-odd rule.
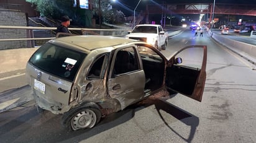
POLYGON ((103 78, 103 71, 104 71, 104 61, 106 61, 107 56, 104 54, 103 56, 100 56, 96 61, 93 63, 91 68, 88 72, 88 79, 92 78, 103 78))

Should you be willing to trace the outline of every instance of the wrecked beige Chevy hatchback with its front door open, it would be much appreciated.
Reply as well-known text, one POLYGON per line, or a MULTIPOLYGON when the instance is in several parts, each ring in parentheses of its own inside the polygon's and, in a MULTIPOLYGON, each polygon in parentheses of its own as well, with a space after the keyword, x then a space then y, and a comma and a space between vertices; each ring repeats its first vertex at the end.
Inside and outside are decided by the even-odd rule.
POLYGON ((39 108, 63 114, 63 125, 76 131, 163 90, 201 102, 206 57, 205 45, 186 46, 167 59, 143 41, 62 37, 35 51, 26 77, 39 108))

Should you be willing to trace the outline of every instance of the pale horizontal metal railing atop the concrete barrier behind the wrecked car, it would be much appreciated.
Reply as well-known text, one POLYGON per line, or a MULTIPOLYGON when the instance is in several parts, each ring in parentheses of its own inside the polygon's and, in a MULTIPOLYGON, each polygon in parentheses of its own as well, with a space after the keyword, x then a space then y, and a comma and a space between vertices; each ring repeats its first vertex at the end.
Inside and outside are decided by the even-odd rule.
MULTIPOLYGON (((1 29, 8 29, 8 30, 27 30, 27 37, 19 37, 19 38, 1 38, 0 39, 0 45, 1 42, 11 42, 11 41, 27 41, 27 47, 13 47, 13 48, 34 48, 37 46, 41 46, 44 43, 46 43, 48 40, 52 40, 56 38, 54 35, 53 37, 40 37, 35 38, 33 35, 33 30, 56 30, 57 27, 20 27, 20 26, 5 26, 0 25, 1 29), (35 45, 36 43, 36 45, 35 45)), ((94 28, 69 28, 69 30, 79 30, 80 33, 83 33, 83 35, 109 35, 114 37, 124 37, 129 30, 127 29, 94 29, 94 28)), ((0 47, 0 50, 1 47, 0 47)))

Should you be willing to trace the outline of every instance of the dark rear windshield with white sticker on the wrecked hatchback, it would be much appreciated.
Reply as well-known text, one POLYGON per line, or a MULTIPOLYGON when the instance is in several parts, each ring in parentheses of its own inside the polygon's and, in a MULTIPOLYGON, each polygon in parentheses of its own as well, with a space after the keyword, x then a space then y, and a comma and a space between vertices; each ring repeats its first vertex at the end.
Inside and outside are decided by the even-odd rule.
POLYGON ((46 43, 32 55, 29 62, 43 71, 73 81, 86 55, 79 51, 46 43))

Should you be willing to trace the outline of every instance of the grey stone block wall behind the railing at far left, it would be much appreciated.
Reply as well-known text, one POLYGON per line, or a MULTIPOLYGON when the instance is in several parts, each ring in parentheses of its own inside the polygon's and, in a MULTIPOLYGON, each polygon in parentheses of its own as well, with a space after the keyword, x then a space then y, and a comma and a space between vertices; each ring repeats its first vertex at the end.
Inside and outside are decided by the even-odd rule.
MULTIPOLYGON (((24 12, 0 10, 0 25, 4 26, 27 26, 27 17, 24 12)), ((0 28, 0 39, 27 38, 25 29, 0 28)), ((26 48, 27 41, 0 41, 0 50, 13 48, 26 48)))

